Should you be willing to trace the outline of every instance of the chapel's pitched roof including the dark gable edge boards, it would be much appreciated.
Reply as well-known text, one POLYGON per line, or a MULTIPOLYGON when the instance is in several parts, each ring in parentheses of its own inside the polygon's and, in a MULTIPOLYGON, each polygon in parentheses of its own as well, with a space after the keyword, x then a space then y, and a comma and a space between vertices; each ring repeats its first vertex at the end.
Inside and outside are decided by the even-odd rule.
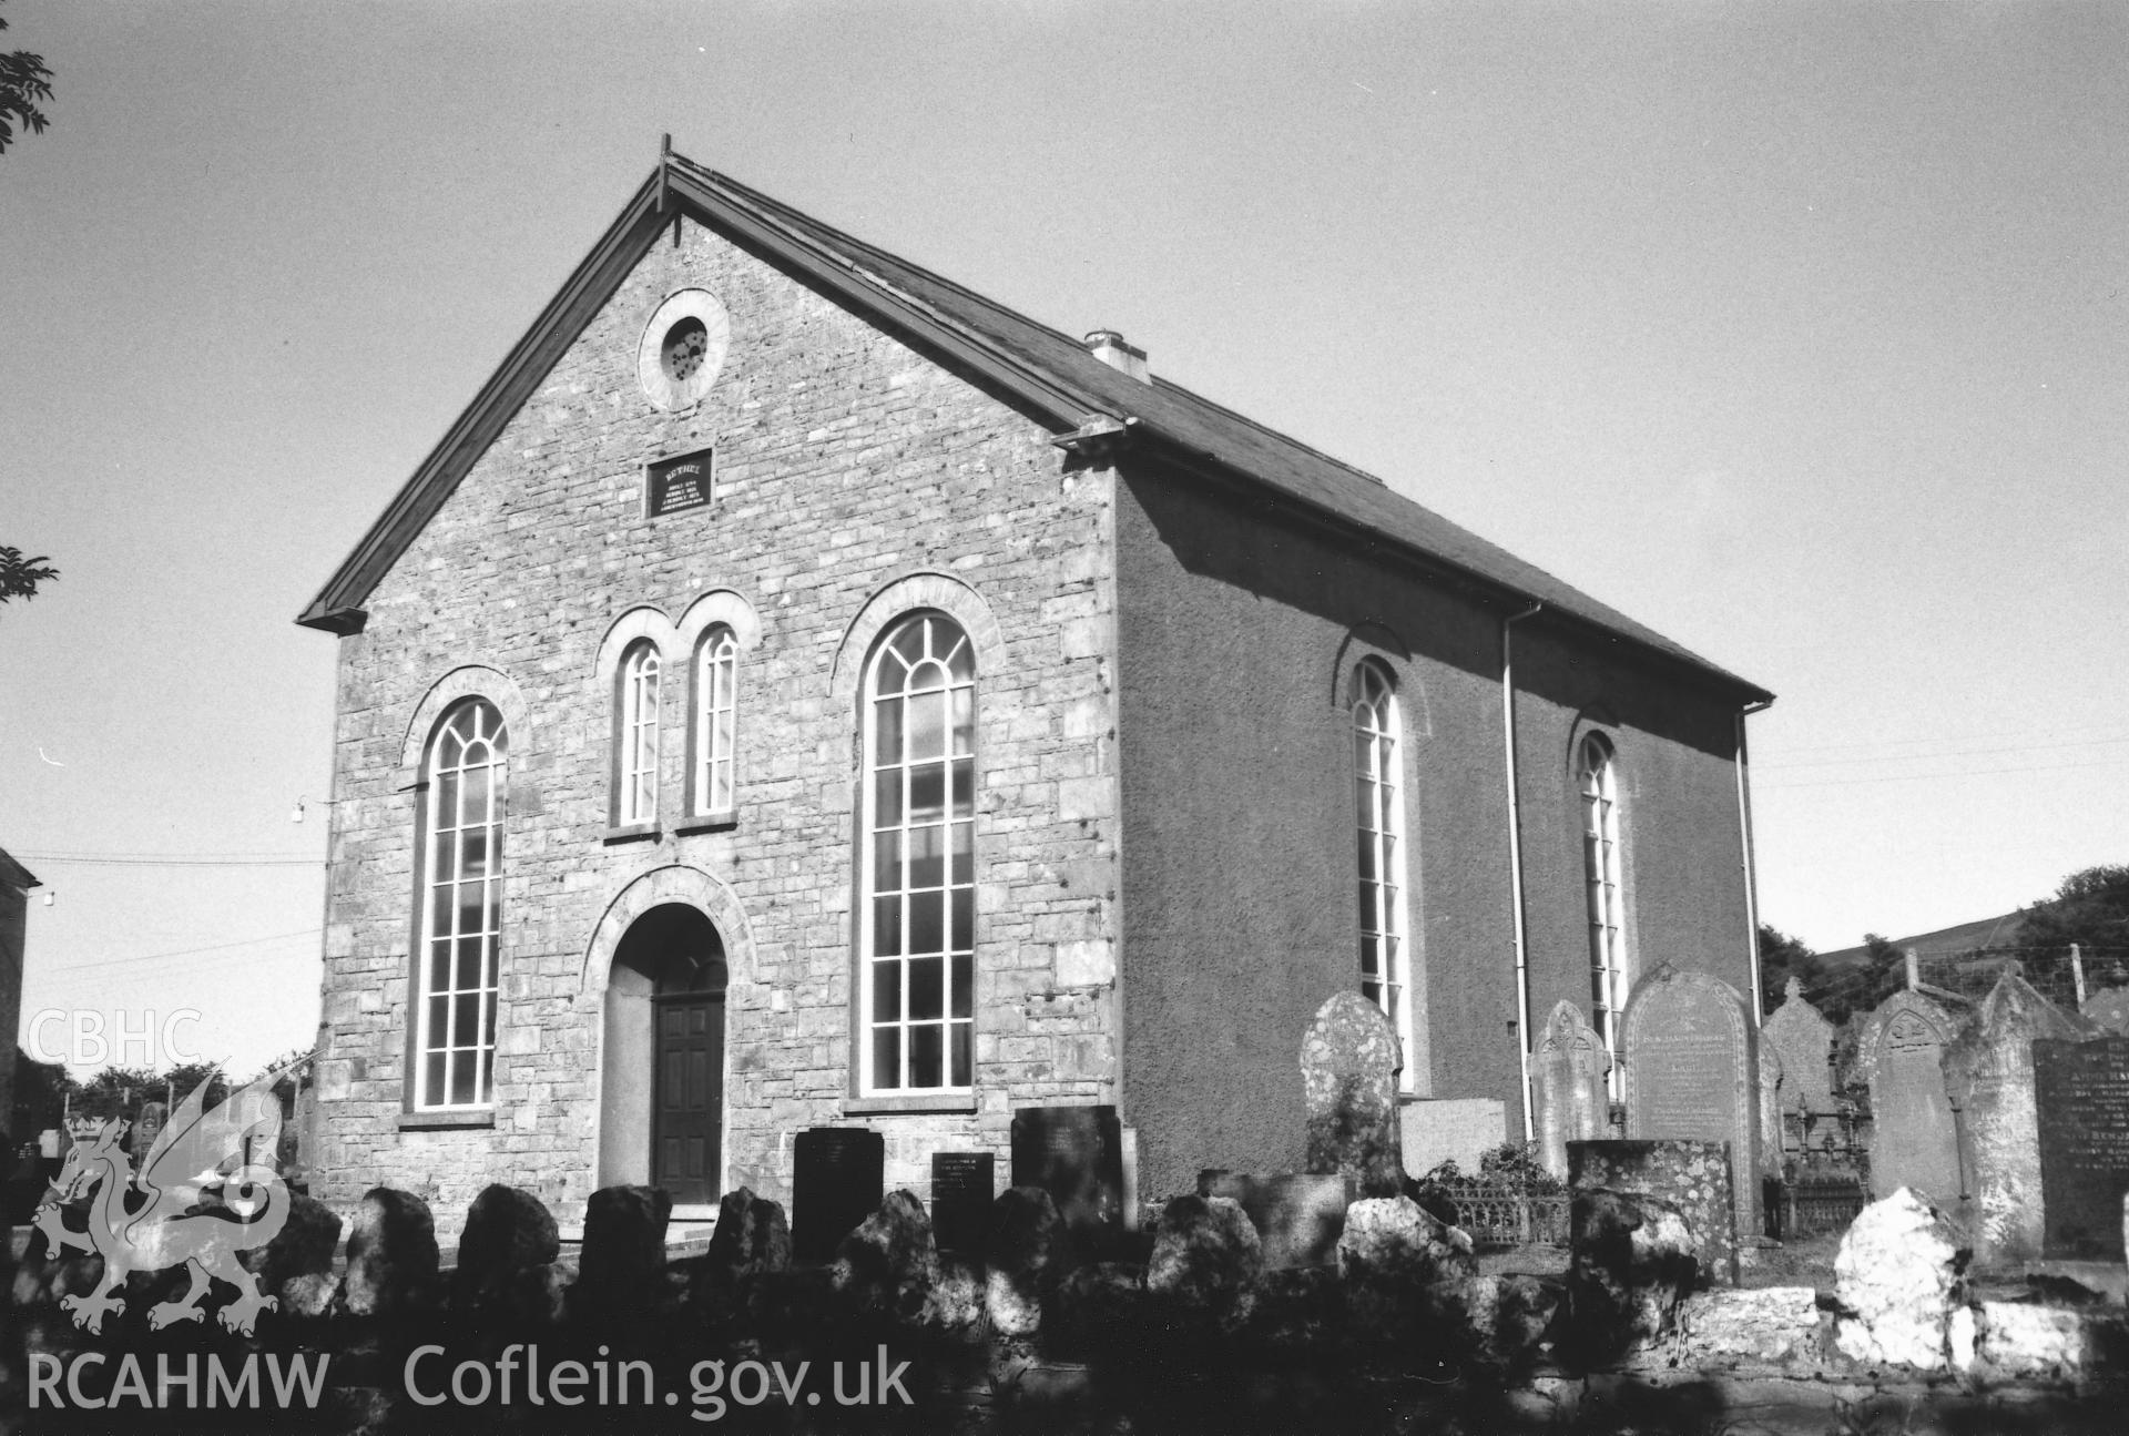
POLYGON ((364 535, 298 622, 332 633, 362 629, 362 605, 509 418, 637 264, 649 243, 683 213, 724 236, 798 271, 852 309, 947 362, 1003 386, 1045 413, 1058 433, 1090 420, 1122 424, 1133 443, 1271 490, 1367 541, 1448 571, 1501 601, 1544 603, 1556 618, 1580 620, 1682 663, 1735 690, 1742 701, 1771 701, 1750 684, 1699 658, 1507 550, 1343 464, 1233 409, 1154 377, 1143 384, 1111 369, 1086 343, 1039 324, 962 285, 864 241, 852 239, 724 175, 679 156, 666 158, 517 341, 473 405, 430 452, 383 518, 364 535))

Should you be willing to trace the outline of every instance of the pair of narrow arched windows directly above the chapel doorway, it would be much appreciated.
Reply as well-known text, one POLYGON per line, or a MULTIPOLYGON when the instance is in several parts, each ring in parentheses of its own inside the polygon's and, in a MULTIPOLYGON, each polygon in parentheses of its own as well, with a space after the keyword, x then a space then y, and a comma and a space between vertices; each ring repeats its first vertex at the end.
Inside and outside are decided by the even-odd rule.
MULTIPOLYGON (((615 675, 615 812, 624 827, 658 820, 660 680, 664 660, 651 639, 637 639, 615 675)), ((694 648, 688 816, 709 818, 737 805, 739 639, 715 624, 694 648)))

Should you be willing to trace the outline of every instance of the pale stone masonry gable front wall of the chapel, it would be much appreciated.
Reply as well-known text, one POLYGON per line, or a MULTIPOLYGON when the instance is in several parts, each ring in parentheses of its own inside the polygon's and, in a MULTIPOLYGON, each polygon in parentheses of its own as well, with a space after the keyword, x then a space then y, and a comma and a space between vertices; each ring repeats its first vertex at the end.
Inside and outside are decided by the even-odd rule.
POLYGON ((1113 1102, 1111 526, 1113 475, 1069 469, 1028 415, 692 222, 662 234, 341 639, 319 1195, 385 1182, 456 1227, 505 1180, 579 1217, 600 1185, 594 929, 675 865, 726 897, 724 1189, 788 1200, 792 1133, 864 1121, 888 1185, 922 1193, 937 1146, 1003 1157, 1013 1106, 1113 1102), (720 296, 730 352, 698 409, 664 413, 637 347, 688 285, 720 296), (645 460, 705 445, 713 507, 645 520, 645 460), (979 1110, 847 1116, 858 714, 832 680, 864 660, 839 650, 869 599, 911 575, 967 584, 1003 639, 977 673, 979 1110), (688 686, 669 652, 662 833, 609 842, 600 641, 720 588, 762 629, 739 665, 739 820, 673 833, 688 686), (424 699, 453 673, 513 724, 496 1104, 492 1127, 422 1129, 402 1123, 415 784, 441 712, 424 699))

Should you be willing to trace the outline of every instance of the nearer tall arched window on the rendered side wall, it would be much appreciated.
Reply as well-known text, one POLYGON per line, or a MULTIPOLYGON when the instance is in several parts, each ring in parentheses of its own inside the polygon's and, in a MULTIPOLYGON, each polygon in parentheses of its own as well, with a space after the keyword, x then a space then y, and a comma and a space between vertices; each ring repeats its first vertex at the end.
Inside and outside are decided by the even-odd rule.
MULTIPOLYGON (((1360 829, 1360 995, 1382 1008, 1412 1052, 1412 954, 1405 944, 1405 790, 1397 692, 1363 663, 1352 680, 1354 807, 1360 829)), ((1418 1074, 1405 1063, 1405 1084, 1418 1074)))

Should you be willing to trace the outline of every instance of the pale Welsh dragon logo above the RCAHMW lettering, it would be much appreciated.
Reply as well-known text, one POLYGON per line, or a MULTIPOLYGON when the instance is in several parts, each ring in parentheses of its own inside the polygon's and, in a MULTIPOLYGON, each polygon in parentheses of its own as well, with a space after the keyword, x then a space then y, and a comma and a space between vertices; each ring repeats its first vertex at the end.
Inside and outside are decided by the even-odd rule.
POLYGON ((258 1276, 243 1268, 236 1253, 264 1246, 287 1223, 287 1187, 270 1165, 281 1136, 281 1102, 273 1087, 281 1076, 268 1072, 215 1108, 204 1108, 204 1082, 192 1089, 147 1148, 138 1178, 119 1148, 130 1125, 123 1119, 111 1119, 75 1142, 51 1195, 36 1208, 36 1229, 45 1234, 51 1255, 75 1246, 104 1259, 102 1285, 94 1293, 60 1300, 77 1327, 100 1334, 106 1315, 126 1310, 117 1291, 128 1274, 160 1272, 181 1261, 192 1268, 192 1287, 179 1300, 149 1308, 151 1329, 204 1321, 200 1302, 215 1278, 236 1287, 236 1300, 217 1312, 230 1332, 251 1336, 258 1315, 279 1306, 277 1298, 260 1293, 258 1276), (249 1159, 253 1151, 266 1153, 264 1165, 249 1159), (87 1231, 68 1229, 62 1214, 92 1189, 87 1231), (219 1189, 219 1202, 209 1197, 213 1189, 219 1189), (147 1200, 128 1202, 128 1191, 147 1200))

